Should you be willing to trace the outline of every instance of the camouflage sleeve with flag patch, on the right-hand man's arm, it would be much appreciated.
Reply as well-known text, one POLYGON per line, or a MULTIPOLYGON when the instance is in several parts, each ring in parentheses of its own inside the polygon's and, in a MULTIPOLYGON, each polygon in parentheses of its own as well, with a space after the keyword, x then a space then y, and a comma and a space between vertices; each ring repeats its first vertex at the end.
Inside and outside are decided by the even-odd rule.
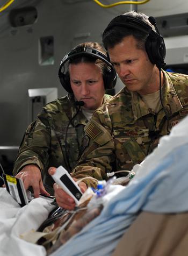
MULTIPOLYGON (((81 179, 91 176, 97 180, 106 180, 106 172, 111 172, 114 155, 114 141, 111 135, 110 122, 107 122, 102 111, 97 110, 85 127, 89 145, 85 148, 78 165, 71 176, 81 179)), ((88 186, 95 187, 95 181, 84 180, 88 186)))

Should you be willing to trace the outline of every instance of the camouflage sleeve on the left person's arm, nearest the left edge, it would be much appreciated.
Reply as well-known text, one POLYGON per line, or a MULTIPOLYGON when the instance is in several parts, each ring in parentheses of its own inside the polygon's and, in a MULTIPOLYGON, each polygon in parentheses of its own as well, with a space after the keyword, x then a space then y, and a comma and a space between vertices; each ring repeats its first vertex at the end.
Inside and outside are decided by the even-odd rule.
POLYGON ((44 177, 44 169, 48 165, 50 148, 50 125, 48 119, 45 111, 41 111, 37 119, 28 126, 14 163, 14 175, 24 166, 33 164, 40 168, 42 177, 44 177))

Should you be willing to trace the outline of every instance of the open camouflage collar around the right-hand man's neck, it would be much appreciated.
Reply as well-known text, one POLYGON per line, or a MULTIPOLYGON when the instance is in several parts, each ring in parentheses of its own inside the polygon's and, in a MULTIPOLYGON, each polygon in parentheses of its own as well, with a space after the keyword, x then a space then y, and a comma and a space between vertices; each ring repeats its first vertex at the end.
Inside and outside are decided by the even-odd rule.
MULTIPOLYGON (((169 115, 172 115, 175 112, 178 112, 183 108, 180 100, 176 94, 176 91, 173 87, 174 79, 172 79, 171 74, 162 70, 164 75, 164 106, 167 109, 169 115)), ((131 92, 132 95, 132 109, 134 113, 134 119, 138 119, 142 116, 153 113, 144 103, 140 95, 136 92, 131 92)))

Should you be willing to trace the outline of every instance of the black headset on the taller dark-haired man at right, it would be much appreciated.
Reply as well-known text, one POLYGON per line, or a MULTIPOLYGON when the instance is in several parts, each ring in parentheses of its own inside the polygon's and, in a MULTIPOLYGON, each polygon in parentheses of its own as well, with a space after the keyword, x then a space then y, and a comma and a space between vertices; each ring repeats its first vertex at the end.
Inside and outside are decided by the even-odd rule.
POLYGON ((112 19, 112 21, 104 30, 103 35, 114 26, 128 27, 130 29, 136 29, 146 33, 148 35, 146 38, 146 52, 148 54, 149 60, 158 68, 162 68, 165 66, 164 58, 166 55, 164 39, 158 31, 155 18, 149 17, 148 19, 151 25, 154 25, 156 32, 152 29, 151 26, 138 18, 120 15, 112 19))

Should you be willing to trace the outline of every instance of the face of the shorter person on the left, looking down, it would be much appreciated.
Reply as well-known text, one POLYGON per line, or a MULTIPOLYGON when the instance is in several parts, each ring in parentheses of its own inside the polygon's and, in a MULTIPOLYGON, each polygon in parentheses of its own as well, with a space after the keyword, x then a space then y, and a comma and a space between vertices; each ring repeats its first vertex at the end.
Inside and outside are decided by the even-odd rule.
POLYGON ((95 63, 78 63, 69 66, 70 85, 77 101, 84 109, 95 110, 103 103, 105 94, 103 74, 95 63))

